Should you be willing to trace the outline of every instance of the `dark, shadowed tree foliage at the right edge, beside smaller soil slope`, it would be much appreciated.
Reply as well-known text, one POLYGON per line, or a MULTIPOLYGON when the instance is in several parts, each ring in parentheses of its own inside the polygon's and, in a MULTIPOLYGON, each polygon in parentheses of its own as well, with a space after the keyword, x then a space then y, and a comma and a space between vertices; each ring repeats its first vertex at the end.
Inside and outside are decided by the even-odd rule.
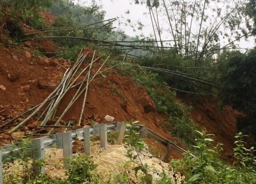
MULTIPOLYGON (((226 71, 222 76, 221 98, 224 104, 245 113, 238 120, 237 128, 256 135, 256 48, 246 54, 225 53, 226 71)), ((256 136, 255 136, 256 137, 256 136)))

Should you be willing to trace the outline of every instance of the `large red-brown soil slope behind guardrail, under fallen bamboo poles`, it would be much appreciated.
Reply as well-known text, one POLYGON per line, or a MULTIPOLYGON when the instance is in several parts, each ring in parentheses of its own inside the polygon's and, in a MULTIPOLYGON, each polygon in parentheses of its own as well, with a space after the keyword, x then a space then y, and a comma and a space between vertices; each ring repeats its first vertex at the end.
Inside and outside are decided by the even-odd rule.
MULTIPOLYGON (((60 82, 65 72, 64 67, 71 66, 71 63, 63 59, 36 56, 32 48, 30 44, 23 48, 0 48, 0 125, 44 101, 60 82)), ((93 52, 90 49, 87 51, 93 52)), ((86 63, 83 63, 84 66, 86 63)), ((99 64, 94 67, 96 71, 99 64)), ((84 76, 81 77, 83 78, 84 76)), ((77 88, 70 89, 67 96, 62 99, 56 116, 60 116, 76 90, 77 88)), ((78 120, 82 101, 81 97, 66 113, 63 118, 66 124, 70 120, 78 120)), ((160 128, 161 122, 165 119, 156 112, 145 89, 136 87, 128 76, 120 76, 113 69, 98 75, 89 85, 82 126, 91 125, 92 121, 104 123, 106 114, 120 122, 138 120, 167 139, 177 142, 160 128)), ((34 118, 27 126, 20 128, 11 136, 6 133, 27 116, 28 114, 0 130, 0 146, 10 144, 20 134, 47 132, 44 128, 34 126, 40 124, 34 118)), ((73 126, 73 129, 75 128, 78 127, 73 126)), ((63 130, 65 129, 60 128, 56 131, 63 130)))

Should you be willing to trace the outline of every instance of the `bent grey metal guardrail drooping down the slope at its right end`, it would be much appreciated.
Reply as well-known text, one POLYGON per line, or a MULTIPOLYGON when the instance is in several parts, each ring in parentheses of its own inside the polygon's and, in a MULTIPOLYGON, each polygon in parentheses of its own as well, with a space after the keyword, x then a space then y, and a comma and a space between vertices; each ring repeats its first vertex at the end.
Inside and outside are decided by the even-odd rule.
MULTIPOLYGON (((186 150, 180 148, 174 143, 168 141, 161 135, 144 127, 143 125, 136 125, 132 127, 133 129, 137 129, 140 132, 140 136, 148 136, 162 145, 166 146, 167 151, 164 156, 164 161, 167 162, 172 150, 177 151, 179 153, 186 152, 186 150)), ((114 122, 108 124, 100 124, 93 125, 90 127, 80 128, 76 130, 67 131, 64 133, 56 133, 53 135, 48 135, 44 137, 39 137, 33 139, 31 145, 29 145, 29 149, 31 150, 30 157, 33 160, 37 159, 45 159, 45 150, 48 149, 63 149, 63 158, 72 158, 72 143, 74 141, 83 140, 84 142, 84 153, 90 155, 90 137, 93 135, 100 136, 100 147, 107 149, 107 132, 117 131, 118 139, 117 144, 121 144, 125 131, 129 131, 130 127, 126 125, 126 123, 114 122)), ((19 153, 21 149, 19 147, 20 143, 3 146, 0 147, 0 184, 3 184, 3 175, 2 175, 2 166, 6 162, 10 162, 8 157, 12 155, 12 160, 19 157, 19 153)), ((194 156, 194 155, 191 155, 194 156)), ((68 159, 63 159, 64 168, 68 168, 70 166, 70 161, 68 159)), ((36 165, 33 166, 34 174, 45 173, 45 167, 38 167, 36 165)))

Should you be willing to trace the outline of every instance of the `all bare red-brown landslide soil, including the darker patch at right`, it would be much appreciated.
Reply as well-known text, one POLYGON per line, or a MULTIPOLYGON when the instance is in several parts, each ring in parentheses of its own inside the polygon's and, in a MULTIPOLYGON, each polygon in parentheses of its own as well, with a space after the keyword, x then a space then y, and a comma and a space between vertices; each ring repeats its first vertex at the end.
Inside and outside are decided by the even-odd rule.
MULTIPOLYGON (((51 24, 54 16, 42 13, 47 23, 51 24)), ((3 28, 1 29, 1 33, 6 33, 3 28)), ((23 26, 23 29, 25 31, 33 30, 33 28, 26 25, 23 26)), ((3 35, 1 36, 3 37, 3 35)), ((35 50, 37 47, 42 52, 54 52, 56 49, 55 43, 51 40, 41 42, 26 41, 22 47, 0 47, 0 125, 44 101, 59 84, 66 68, 72 65, 71 62, 64 59, 48 58, 52 57, 52 55, 47 57, 38 53, 35 50)), ((87 48, 85 52, 89 52, 88 56, 92 57, 92 49, 87 48)), ((90 60, 91 58, 88 57, 82 67, 86 67, 87 62, 90 62, 90 60)), ((94 72, 99 65, 99 63, 94 65, 94 72)), ((76 90, 77 88, 70 89, 67 96, 62 99, 56 114, 57 117, 66 108, 76 90)), ((67 125, 70 121, 77 122, 82 101, 81 97, 73 104, 63 118, 62 125, 67 125)), ((224 154, 230 160, 234 142, 233 136, 236 133, 236 118, 240 116, 240 113, 228 106, 225 106, 221 112, 218 109, 217 102, 211 99, 205 99, 201 102, 190 102, 184 99, 183 101, 194 107, 190 112, 191 118, 205 127, 209 133, 216 134, 217 142, 224 144, 224 154)), ((89 85, 87 103, 83 111, 82 125, 80 127, 94 123, 105 123, 104 117, 106 115, 112 116, 115 118, 114 121, 120 122, 138 120, 141 124, 145 124, 146 127, 166 139, 177 142, 179 146, 185 148, 179 140, 162 129, 161 124, 166 119, 156 112, 155 105, 146 94, 145 88, 136 87, 129 76, 120 75, 114 69, 98 75, 89 85)), ((32 119, 27 126, 20 128, 12 135, 6 133, 27 116, 28 114, 25 114, 0 130, 0 146, 17 141, 20 135, 28 136, 31 133, 47 133, 49 129, 35 126, 40 124, 40 122, 37 122, 37 118, 32 119)), ((72 129, 76 128, 79 127, 75 125, 72 127, 72 129)), ((55 131, 64 130, 64 128, 59 128, 55 131)), ((159 144, 154 141, 148 141, 148 143, 164 153, 165 148, 161 148, 159 144)), ((178 157, 180 157, 179 154, 172 156, 172 158, 178 157)))

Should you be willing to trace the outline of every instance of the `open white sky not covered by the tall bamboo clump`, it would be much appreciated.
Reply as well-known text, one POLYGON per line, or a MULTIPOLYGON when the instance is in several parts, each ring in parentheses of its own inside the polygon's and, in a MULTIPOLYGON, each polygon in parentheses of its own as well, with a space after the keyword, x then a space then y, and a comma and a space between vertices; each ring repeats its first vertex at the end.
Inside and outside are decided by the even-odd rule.
MULTIPOLYGON (((87 5, 92 1, 76 0, 75 2, 79 2, 80 5, 87 5)), ((98 0, 96 2, 99 5, 102 5, 102 9, 106 12, 105 19, 118 17, 118 20, 115 22, 114 26, 120 30, 123 30, 125 34, 129 36, 136 36, 140 34, 143 34, 144 36, 150 36, 153 34, 150 15, 145 14, 148 13, 148 10, 145 8, 145 6, 135 5, 134 0, 98 0), (129 15, 125 14, 127 10, 130 11, 129 15), (130 26, 125 26, 127 19, 131 19, 132 24, 135 26, 137 26, 138 21, 141 21, 145 27, 141 31, 135 29, 136 32, 134 32, 133 28, 130 26)), ((168 36, 169 33, 163 33, 162 39, 169 40, 168 36)), ((248 41, 240 41, 241 48, 253 48, 254 46, 254 38, 250 38, 248 41)))

